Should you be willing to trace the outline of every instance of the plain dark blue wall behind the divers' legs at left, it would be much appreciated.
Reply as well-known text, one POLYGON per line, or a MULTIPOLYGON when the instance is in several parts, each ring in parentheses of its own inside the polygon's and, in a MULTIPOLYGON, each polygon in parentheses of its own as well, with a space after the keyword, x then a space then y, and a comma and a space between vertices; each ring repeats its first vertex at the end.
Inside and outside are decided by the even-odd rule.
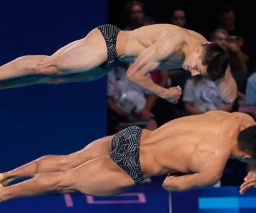
MULTIPOLYGON (((106 0, 0 1, 0 65, 51 55, 107 23, 106 0)), ((105 79, 0 90, 0 173, 106 134, 105 79)))

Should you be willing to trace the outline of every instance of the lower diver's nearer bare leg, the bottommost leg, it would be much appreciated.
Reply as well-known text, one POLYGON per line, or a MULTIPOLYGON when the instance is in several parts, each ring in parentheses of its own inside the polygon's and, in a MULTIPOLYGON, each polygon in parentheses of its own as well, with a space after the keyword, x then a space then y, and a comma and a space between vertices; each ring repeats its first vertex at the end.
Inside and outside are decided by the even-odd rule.
POLYGON ((105 156, 90 160, 66 172, 41 173, 16 185, 0 187, 0 201, 55 191, 115 195, 133 185, 132 178, 105 156))

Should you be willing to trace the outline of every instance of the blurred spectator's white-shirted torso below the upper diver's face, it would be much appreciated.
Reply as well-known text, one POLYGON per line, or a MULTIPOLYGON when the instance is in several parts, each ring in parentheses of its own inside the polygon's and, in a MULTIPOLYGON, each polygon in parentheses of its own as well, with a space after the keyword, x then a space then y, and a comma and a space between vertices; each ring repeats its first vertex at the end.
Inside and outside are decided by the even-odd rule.
POLYGON ((223 101, 213 81, 201 76, 187 80, 183 102, 188 114, 202 114, 210 110, 231 111, 233 107, 233 103, 223 101))

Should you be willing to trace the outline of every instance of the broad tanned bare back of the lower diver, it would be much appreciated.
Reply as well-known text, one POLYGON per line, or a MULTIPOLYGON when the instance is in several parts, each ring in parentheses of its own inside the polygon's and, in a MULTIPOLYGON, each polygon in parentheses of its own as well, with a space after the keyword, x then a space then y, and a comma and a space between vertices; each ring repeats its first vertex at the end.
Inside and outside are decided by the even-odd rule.
MULTIPOLYGON (((144 133, 140 159, 144 175, 194 173, 206 160, 222 171, 240 129, 253 121, 240 121, 243 114, 211 111, 186 116, 144 133)), ((250 120, 250 119, 249 119, 250 120)))

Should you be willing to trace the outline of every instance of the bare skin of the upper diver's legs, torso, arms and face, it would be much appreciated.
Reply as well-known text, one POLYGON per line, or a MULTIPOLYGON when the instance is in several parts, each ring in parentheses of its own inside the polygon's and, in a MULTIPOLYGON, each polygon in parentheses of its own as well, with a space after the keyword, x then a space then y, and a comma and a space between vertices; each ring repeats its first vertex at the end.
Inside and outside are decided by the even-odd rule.
MULTIPOLYGON (((170 102, 181 96, 180 87, 166 89, 154 83, 148 72, 159 69, 184 68, 191 75, 206 73, 202 65, 203 35, 171 24, 143 26, 134 31, 120 31, 117 56, 132 62, 127 78, 170 102)), ((107 60, 107 47, 102 33, 95 28, 85 38, 60 48, 53 55, 28 55, 0 67, 0 89, 28 84, 86 82, 96 80, 112 69, 100 68, 107 60)), ((218 84, 220 94, 233 102, 236 84, 228 69, 218 84), (222 84, 225 86, 223 87, 222 84), (228 88, 228 89, 226 89, 228 88)))

